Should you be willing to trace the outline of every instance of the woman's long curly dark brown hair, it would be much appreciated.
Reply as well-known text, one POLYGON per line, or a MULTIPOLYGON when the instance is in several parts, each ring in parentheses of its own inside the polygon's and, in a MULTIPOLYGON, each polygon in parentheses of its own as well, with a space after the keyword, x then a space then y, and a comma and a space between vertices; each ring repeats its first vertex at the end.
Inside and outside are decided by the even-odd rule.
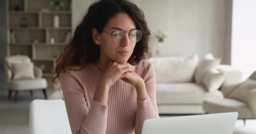
POLYGON ((109 19, 117 13, 130 15, 136 24, 136 29, 143 33, 141 40, 136 43, 128 63, 134 65, 141 59, 151 57, 148 47, 151 34, 145 21, 144 12, 128 0, 99 0, 88 8, 87 13, 75 28, 72 40, 57 59, 53 71, 53 82, 56 82, 55 80, 59 78, 61 72, 72 70, 72 66, 79 66, 82 70, 83 67, 99 58, 100 47, 94 43, 91 31, 96 28, 101 33, 109 19))

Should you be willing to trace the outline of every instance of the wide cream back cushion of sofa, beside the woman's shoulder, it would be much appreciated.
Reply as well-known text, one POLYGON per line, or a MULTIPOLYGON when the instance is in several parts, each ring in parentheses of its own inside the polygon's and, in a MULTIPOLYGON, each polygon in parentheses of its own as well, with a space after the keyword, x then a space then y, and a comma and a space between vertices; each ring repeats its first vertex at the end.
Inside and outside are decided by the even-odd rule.
POLYGON ((157 82, 192 82, 198 56, 152 57, 157 82))

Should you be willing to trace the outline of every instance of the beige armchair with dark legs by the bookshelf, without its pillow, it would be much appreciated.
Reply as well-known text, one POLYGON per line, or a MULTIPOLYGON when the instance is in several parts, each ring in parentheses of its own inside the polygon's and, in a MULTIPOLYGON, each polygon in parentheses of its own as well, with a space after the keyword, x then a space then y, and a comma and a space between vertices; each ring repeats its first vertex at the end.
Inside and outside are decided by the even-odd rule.
POLYGON ((30 96, 33 96, 33 90, 43 90, 45 99, 47 99, 47 81, 42 78, 42 70, 40 67, 33 67, 35 78, 20 78, 13 79, 13 70, 11 69, 12 63, 30 63, 31 60, 25 55, 13 55, 5 58, 5 78, 6 87, 9 90, 8 99, 11 99, 12 92, 15 92, 14 103, 17 102, 19 91, 30 91, 30 96))

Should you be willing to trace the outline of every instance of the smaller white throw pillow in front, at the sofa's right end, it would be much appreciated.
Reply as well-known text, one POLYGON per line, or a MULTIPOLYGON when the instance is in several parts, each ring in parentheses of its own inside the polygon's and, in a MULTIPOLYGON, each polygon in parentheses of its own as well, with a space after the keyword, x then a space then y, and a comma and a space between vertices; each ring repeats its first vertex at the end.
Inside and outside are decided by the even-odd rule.
POLYGON ((215 68, 208 70, 203 76, 203 83, 209 92, 218 90, 223 84, 224 80, 224 72, 215 68))

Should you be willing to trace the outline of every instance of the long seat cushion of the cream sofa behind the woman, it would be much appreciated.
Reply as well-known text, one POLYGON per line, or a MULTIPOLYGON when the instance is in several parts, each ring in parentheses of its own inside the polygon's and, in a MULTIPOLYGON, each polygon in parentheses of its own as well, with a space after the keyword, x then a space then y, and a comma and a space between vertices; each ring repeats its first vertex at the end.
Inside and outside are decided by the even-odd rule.
POLYGON ((192 82, 157 83, 157 104, 202 104, 204 98, 223 98, 219 90, 208 92, 192 82))

